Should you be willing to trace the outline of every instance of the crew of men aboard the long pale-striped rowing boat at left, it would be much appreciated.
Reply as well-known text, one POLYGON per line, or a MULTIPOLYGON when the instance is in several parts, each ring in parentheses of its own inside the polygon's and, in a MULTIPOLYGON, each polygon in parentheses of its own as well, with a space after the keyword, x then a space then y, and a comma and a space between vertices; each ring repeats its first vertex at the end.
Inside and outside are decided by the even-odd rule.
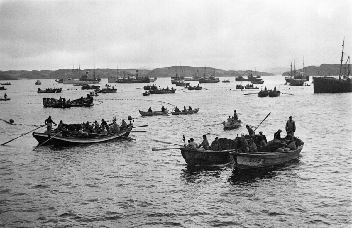
POLYGON ((122 119, 121 126, 117 124, 116 119, 112 120, 112 125, 110 126, 104 119, 101 120, 100 125, 96 120, 94 121, 94 123, 92 123, 92 125, 90 125, 89 121, 83 124, 64 124, 62 120, 57 125, 51 119, 51 116, 49 116, 48 119, 44 121, 44 123, 46 124, 46 133, 48 133, 48 137, 51 136, 52 124, 55 124, 55 126, 57 126, 56 132, 58 133, 58 136, 62 136, 63 131, 74 131, 77 132, 77 137, 82 137, 82 134, 84 132, 93 133, 95 135, 94 137, 96 137, 97 135, 108 135, 112 134, 113 132, 120 132, 127 129, 127 123, 124 119, 122 119))

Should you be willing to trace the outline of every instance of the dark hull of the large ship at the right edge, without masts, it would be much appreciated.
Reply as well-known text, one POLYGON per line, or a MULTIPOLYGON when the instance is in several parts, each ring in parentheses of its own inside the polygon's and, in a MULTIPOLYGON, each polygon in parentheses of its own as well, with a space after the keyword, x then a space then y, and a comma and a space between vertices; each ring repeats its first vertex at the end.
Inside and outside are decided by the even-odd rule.
POLYGON ((313 77, 314 93, 351 93, 351 78, 339 80, 333 77, 313 77))

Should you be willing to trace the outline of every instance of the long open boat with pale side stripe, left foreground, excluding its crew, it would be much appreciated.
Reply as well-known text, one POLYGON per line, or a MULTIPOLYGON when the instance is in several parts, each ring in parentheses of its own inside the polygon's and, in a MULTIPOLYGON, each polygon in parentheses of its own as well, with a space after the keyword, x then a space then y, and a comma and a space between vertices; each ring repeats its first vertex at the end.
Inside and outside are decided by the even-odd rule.
POLYGON ((86 138, 83 138, 84 137, 83 135, 78 136, 77 134, 78 132, 64 131, 63 136, 58 136, 58 135, 54 136, 56 133, 53 132, 52 136, 54 137, 48 142, 45 142, 50 138, 48 137, 47 133, 33 132, 32 135, 39 142, 39 144, 42 144, 43 142, 45 142, 45 144, 43 145, 54 144, 55 146, 69 146, 69 145, 106 142, 113 139, 124 138, 130 134, 132 128, 133 128, 133 123, 131 123, 130 125, 127 125, 126 131, 119 132, 117 134, 102 135, 102 134, 88 133, 88 136, 86 136, 86 138))

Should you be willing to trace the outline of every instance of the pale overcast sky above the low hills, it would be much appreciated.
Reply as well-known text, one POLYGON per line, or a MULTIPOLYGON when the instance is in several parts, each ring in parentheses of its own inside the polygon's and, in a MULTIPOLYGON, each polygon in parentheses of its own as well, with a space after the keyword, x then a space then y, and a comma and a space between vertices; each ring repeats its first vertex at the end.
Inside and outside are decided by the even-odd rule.
POLYGON ((340 64, 344 39, 352 55, 351 0, 0 0, 2 71, 268 72, 302 68, 303 57, 340 64))

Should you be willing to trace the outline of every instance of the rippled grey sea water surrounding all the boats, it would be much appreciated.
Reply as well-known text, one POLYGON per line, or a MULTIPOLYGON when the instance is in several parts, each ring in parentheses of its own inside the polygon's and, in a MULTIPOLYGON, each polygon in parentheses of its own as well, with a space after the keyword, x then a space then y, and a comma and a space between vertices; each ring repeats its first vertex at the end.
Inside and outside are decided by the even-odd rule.
MULTIPOLYGON (((264 76, 276 98, 244 95, 230 83, 202 84, 203 90, 142 96, 145 84, 117 84, 118 93, 101 94, 90 108, 44 108, 43 97, 77 99, 87 91, 63 86, 61 94, 38 94, 54 80, 10 81, 1 101, 0 142, 6 142, 54 122, 121 123, 128 115, 147 133, 131 133, 136 141, 55 148, 38 145, 31 133, 0 146, 1 227, 351 227, 352 93, 314 94, 310 87, 284 85, 283 76, 264 76), (136 89, 142 88, 142 89, 136 89), (77 90, 76 90, 77 89, 77 90), (231 89, 231 90, 230 90, 231 89), (293 94, 293 95, 288 95, 293 94), (198 114, 142 117, 138 110, 190 105, 198 114), (304 141, 298 160, 276 169, 234 173, 231 165, 189 168, 180 150, 152 151, 177 146, 206 134, 233 139, 245 126, 224 130, 221 123, 236 110, 243 122, 258 126, 268 140, 284 130, 293 116, 295 136, 304 141)), ((312 79, 311 79, 312 81, 312 79)), ((107 83, 103 79, 100 86, 107 83)), ((197 82, 191 82, 196 85, 197 82)), ((56 83, 55 83, 56 84, 56 83)), ((246 84, 246 82, 243 82, 246 84)), ((309 82, 310 84, 310 82, 309 82)), ((158 78, 156 85, 171 85, 158 78)), ((177 87, 180 89, 181 87, 177 87)), ((37 131, 44 132, 41 128, 37 131)))

